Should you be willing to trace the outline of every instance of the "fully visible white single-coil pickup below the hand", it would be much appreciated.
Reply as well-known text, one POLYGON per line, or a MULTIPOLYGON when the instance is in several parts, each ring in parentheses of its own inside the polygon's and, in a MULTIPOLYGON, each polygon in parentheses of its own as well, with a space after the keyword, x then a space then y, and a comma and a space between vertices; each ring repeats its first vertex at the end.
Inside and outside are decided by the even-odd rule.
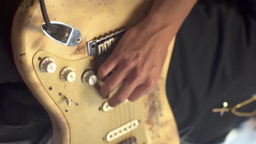
POLYGON ((132 130, 135 130, 138 127, 139 121, 137 119, 128 122, 124 125, 121 125, 120 127, 109 131, 106 135, 106 140, 107 141, 113 141, 115 139, 117 139, 118 137, 121 137, 129 132, 131 132, 132 130))

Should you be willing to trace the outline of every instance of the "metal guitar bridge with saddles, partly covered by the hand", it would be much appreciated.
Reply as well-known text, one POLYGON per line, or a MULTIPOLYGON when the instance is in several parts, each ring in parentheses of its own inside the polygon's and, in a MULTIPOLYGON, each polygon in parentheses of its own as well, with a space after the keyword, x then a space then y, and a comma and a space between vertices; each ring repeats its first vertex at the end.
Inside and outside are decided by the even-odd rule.
POLYGON ((117 46, 118 41, 126 32, 125 28, 119 29, 115 32, 110 32, 94 40, 88 42, 88 54, 94 56, 96 59, 101 60, 110 55, 117 46))

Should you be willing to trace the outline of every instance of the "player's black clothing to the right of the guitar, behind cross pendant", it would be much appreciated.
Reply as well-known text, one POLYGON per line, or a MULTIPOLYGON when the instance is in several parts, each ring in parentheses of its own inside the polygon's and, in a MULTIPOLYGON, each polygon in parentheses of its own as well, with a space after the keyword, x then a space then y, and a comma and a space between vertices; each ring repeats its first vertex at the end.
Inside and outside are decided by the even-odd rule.
MULTIPOLYGON (((212 109, 224 101, 234 106, 256 93, 251 8, 243 1, 200 1, 179 29, 166 88, 182 141, 219 143, 247 119, 231 112, 220 116, 212 109)), ((252 103, 240 111, 255 108, 252 103)))

